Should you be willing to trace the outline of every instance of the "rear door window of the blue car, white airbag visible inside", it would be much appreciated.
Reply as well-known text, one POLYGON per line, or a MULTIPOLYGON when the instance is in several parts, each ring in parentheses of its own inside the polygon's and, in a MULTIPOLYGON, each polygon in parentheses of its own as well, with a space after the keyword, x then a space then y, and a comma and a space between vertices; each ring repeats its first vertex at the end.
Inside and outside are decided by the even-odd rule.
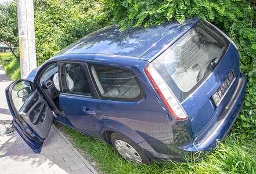
POLYGON ((64 93, 91 96, 89 81, 82 63, 62 63, 62 86, 64 93))

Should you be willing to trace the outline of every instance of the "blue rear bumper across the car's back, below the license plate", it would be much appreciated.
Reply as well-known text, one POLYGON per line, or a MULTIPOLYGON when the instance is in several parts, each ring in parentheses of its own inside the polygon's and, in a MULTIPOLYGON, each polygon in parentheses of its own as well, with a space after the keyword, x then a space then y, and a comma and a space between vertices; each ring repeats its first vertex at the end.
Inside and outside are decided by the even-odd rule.
POLYGON ((219 121, 216 122, 212 129, 202 139, 195 139, 194 142, 190 142, 186 146, 179 148, 181 150, 192 152, 207 152, 214 150, 214 148, 218 146, 218 142, 222 142, 226 135, 228 135, 241 111, 246 94, 246 84, 246 77, 240 73, 236 90, 233 93, 232 99, 228 103, 228 106, 226 106, 226 110, 223 112, 219 121))

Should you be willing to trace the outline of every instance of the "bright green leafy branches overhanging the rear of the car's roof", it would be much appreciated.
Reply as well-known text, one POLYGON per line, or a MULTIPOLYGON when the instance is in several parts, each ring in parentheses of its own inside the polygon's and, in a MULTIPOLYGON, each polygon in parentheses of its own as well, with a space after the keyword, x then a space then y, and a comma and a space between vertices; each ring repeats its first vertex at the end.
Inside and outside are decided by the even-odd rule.
MULTIPOLYGON (((214 21, 220 16, 228 16, 235 20, 234 11, 241 14, 239 9, 230 8, 230 1, 182 1, 182 0, 135 0, 116 1, 109 0, 114 5, 115 13, 120 16, 120 26, 146 26, 158 25, 167 20, 176 19, 180 22, 186 17, 202 17, 214 21), (230 8, 230 10, 227 10, 230 8)), ((228 18, 226 17, 226 18, 228 18)))

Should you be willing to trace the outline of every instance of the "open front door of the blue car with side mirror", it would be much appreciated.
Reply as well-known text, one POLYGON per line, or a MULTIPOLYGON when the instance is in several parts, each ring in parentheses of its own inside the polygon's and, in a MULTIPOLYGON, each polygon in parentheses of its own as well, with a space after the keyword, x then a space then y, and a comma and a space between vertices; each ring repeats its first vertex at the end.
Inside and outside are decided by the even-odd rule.
POLYGON ((53 121, 48 103, 26 79, 18 79, 8 86, 6 99, 14 128, 35 153, 40 153, 53 121))

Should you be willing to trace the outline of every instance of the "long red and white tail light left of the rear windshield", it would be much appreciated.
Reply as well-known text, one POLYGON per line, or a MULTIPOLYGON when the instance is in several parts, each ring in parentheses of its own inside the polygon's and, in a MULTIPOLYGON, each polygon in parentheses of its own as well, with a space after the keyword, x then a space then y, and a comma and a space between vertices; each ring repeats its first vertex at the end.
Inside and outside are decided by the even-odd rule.
POLYGON ((145 73, 171 117, 179 121, 188 119, 181 103, 152 64, 146 66, 145 73))

